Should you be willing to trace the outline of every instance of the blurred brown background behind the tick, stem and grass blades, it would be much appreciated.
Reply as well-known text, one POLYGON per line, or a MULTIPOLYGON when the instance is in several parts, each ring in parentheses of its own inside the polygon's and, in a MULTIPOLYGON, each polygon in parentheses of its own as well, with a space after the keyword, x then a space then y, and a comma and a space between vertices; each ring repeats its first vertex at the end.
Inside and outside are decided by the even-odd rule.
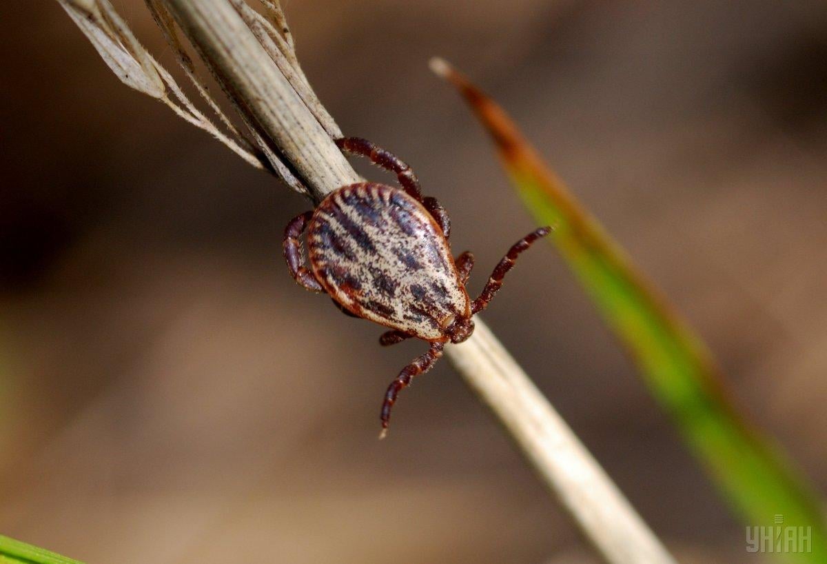
MULTIPOLYGON (((825 2, 285 8, 342 130, 452 213, 473 289, 533 224, 432 55, 509 108, 827 490, 825 2)), ((447 362, 376 441, 423 346, 382 350, 290 280, 307 201, 120 84, 56 2, 0 22, 0 532, 101 564, 591 561, 447 362)), ((676 556, 756 562, 553 249, 522 262, 495 332, 676 556)))

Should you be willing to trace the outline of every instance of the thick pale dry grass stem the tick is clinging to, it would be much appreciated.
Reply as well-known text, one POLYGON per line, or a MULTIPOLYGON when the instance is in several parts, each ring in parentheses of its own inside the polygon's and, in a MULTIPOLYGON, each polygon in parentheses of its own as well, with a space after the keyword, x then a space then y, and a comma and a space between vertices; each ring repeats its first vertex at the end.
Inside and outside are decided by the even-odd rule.
MULTIPOLYGON (((65 7, 98 4, 91 0, 58 1, 65 7)), ((150 0, 149 3, 161 15, 165 12, 158 9, 160 5, 169 8, 175 22, 251 127, 259 146, 277 154, 287 164, 287 174, 298 179, 299 184, 295 184, 290 182, 289 175, 285 178, 292 188, 299 189, 300 185, 301 191, 318 202, 343 184, 360 180, 332 141, 339 130, 304 79, 278 3, 262 0, 271 21, 241 0, 150 0)), ((73 19, 78 22, 78 8, 73 9, 73 19)), ((156 19, 166 28, 167 41, 179 45, 169 19, 156 19)), ((103 31, 95 31, 103 29, 100 25, 94 29, 84 25, 85 29, 79 23, 93 42, 104 41, 99 37, 103 31)), ((128 36, 131 38, 131 34, 128 36)), ((105 41, 112 43, 108 35, 105 41)), ((174 49, 179 50, 176 46, 174 49)), ((135 67, 144 70, 144 65, 147 76, 157 74, 154 61, 148 59, 148 55, 134 56, 131 51, 123 50, 130 56, 118 55, 126 59, 121 61, 109 54, 120 54, 122 50, 107 45, 103 52, 104 59, 119 76, 127 74, 127 66, 131 72, 135 67)), ((187 65, 182 64, 186 69, 187 65)), ((141 86, 158 88, 158 83, 151 81, 141 86)), ((485 323, 477 321, 473 336, 461 345, 447 347, 446 353, 606 562, 674 562, 485 323)))

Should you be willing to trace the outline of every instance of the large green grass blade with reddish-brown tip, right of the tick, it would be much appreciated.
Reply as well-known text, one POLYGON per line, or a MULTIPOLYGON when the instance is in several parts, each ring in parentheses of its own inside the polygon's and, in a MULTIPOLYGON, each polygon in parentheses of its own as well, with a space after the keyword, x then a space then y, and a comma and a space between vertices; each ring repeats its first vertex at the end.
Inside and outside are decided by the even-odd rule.
POLYGON ((502 108, 444 61, 434 60, 432 67, 457 87, 488 130, 529 211, 555 227, 553 243, 735 512, 748 526, 772 526, 781 514, 784 527, 810 527, 810 552, 784 556, 827 562, 818 496, 781 449, 739 417, 714 359, 691 327, 643 279, 502 108))

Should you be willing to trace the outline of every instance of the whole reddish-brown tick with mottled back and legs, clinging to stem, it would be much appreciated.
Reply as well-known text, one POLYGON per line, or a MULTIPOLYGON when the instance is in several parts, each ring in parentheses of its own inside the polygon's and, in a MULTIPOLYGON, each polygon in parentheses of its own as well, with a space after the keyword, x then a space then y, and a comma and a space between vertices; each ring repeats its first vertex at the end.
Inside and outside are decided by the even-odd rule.
POLYGON ((390 410, 399 390, 430 370, 447 342, 463 342, 474 332, 471 319, 490 303, 517 256, 550 227, 517 241, 496 265, 479 297, 471 300, 466 282, 474 256, 452 257, 451 222, 435 198, 423 198, 419 182, 402 160, 370 141, 336 141, 342 151, 369 158, 397 175, 402 189, 360 182, 336 189, 312 212, 295 217, 284 231, 284 259, 304 288, 330 294, 342 312, 365 318, 390 331, 382 346, 410 337, 430 343, 388 386, 380 418, 387 433, 390 410), (301 237, 306 232, 308 266, 301 237))

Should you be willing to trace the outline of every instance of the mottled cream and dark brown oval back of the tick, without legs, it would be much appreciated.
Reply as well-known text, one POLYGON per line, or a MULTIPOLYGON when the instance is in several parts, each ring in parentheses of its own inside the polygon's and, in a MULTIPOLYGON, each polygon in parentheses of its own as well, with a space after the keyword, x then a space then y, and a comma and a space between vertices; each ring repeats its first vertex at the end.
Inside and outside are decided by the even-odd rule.
POLYGON ((316 278, 361 318, 437 341, 457 317, 471 315, 442 229, 401 189, 360 183, 328 194, 307 243, 316 278))

